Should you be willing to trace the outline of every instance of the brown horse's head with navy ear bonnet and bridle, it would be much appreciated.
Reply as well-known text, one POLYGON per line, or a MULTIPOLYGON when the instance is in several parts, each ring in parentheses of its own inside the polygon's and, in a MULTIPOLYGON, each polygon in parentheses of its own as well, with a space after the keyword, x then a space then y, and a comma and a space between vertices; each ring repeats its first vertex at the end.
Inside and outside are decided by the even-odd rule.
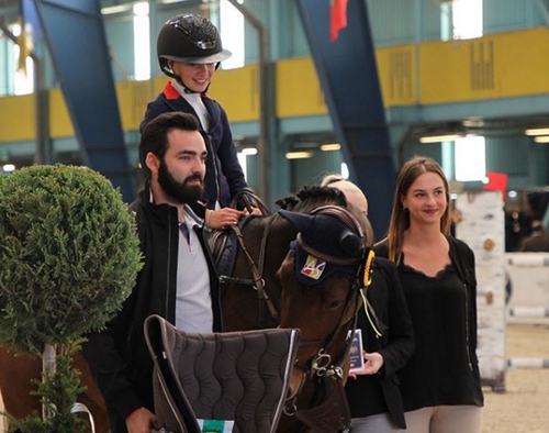
POLYGON ((290 385, 298 396, 313 377, 345 375, 347 334, 360 307, 371 232, 368 240, 363 227, 369 224, 340 206, 320 207, 311 214, 279 213, 299 231, 278 270, 283 288, 280 325, 301 329, 290 385))

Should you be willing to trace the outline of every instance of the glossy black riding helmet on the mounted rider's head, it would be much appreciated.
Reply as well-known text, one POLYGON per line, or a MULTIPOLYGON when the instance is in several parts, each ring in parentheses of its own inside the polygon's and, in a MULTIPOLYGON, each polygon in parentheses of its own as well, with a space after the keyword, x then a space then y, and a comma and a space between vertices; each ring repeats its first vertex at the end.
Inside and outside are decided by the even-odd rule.
POLYGON ((197 14, 180 14, 167 21, 158 33, 156 52, 160 69, 168 77, 175 78, 168 62, 206 64, 231 57, 228 49, 223 49, 220 32, 210 20, 197 14))

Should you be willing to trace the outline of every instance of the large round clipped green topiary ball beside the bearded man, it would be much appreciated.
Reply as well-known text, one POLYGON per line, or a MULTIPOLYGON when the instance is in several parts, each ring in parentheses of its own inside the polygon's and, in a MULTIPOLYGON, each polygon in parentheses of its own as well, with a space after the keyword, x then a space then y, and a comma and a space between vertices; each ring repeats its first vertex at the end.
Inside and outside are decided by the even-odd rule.
POLYGON ((141 259, 135 219, 99 173, 56 165, 0 176, 0 340, 41 354, 103 327, 141 259))

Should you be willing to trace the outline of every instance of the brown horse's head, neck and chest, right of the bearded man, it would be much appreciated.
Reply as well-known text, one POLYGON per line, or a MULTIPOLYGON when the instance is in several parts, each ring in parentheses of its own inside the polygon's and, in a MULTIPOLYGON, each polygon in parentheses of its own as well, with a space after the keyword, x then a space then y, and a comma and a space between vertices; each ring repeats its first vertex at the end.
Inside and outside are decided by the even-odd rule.
POLYGON ((235 267, 231 277, 224 277, 224 329, 301 329, 291 391, 278 431, 337 432, 347 422, 343 391, 347 336, 361 304, 358 293, 365 286, 365 271, 369 271, 365 270, 365 234, 371 242, 371 226, 333 188, 305 188, 277 204, 282 208, 278 213, 250 219, 238 230, 235 267), (315 225, 315 218, 324 218, 324 223, 315 225), (344 242, 337 237, 341 227, 336 231, 334 224, 355 235, 350 253, 341 249, 344 242), (330 240, 332 232, 336 237, 330 240), (303 251, 322 258, 333 273, 318 281, 300 278, 309 257, 303 251))

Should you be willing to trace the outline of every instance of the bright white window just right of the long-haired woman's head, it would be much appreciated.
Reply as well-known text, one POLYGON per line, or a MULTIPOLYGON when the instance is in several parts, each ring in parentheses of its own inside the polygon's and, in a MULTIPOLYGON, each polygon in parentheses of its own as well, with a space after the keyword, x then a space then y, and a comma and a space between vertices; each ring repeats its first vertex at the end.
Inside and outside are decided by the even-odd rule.
POLYGON ((483 180, 486 177, 486 149, 483 136, 456 140, 456 180, 483 180))

